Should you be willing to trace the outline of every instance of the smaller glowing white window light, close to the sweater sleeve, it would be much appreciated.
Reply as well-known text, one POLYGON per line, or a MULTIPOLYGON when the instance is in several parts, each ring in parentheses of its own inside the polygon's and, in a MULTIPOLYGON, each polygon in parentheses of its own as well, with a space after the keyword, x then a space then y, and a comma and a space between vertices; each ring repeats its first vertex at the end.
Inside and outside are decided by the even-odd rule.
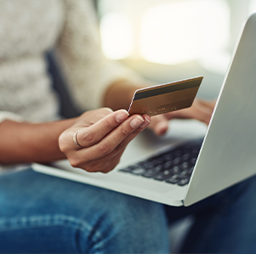
POLYGON ((132 54, 134 32, 125 14, 109 13, 100 20, 102 50, 109 59, 124 59, 132 54))

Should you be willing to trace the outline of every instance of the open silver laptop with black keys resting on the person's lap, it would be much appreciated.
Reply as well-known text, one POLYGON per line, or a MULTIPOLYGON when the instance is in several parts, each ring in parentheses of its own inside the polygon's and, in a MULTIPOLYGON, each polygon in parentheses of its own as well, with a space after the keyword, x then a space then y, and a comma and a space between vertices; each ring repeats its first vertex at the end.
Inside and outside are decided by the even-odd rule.
POLYGON ((256 14, 242 30, 208 127, 171 121, 167 137, 140 133, 111 172, 90 173, 68 161, 37 172, 93 184, 170 206, 190 206, 256 173, 256 14))

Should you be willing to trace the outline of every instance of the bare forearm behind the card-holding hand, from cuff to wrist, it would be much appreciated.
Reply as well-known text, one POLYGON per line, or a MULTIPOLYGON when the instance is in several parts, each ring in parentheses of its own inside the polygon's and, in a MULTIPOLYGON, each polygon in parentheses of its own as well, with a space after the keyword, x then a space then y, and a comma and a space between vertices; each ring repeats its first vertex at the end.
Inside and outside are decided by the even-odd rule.
POLYGON ((0 124, 0 163, 9 165, 64 159, 58 139, 75 120, 46 123, 3 121, 0 124))

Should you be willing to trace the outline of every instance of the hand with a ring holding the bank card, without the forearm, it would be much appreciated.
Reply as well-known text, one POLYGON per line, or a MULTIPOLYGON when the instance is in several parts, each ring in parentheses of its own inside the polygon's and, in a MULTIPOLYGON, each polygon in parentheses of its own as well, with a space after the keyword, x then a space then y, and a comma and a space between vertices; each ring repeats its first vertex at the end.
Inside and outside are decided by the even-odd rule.
POLYGON ((72 167, 87 172, 110 172, 117 166, 128 143, 151 122, 150 116, 128 116, 127 110, 91 110, 60 134, 60 150, 72 167), (77 133, 78 148, 73 142, 77 133))

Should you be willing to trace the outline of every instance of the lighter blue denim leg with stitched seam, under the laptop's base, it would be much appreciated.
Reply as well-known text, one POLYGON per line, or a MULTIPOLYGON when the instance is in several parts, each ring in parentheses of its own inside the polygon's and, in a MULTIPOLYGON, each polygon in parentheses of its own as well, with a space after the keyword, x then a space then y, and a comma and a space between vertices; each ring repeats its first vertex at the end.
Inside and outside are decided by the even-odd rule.
POLYGON ((0 252, 166 253, 162 205, 31 170, 0 176, 0 252))

